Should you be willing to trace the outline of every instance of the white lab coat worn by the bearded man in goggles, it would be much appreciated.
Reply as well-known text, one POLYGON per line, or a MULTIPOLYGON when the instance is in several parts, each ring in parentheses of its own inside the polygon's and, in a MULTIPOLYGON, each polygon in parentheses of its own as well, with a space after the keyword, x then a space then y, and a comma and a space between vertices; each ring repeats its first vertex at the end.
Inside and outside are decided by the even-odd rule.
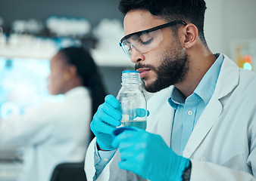
MULTIPOLYGON (((173 108, 167 102, 169 87, 148 101, 147 130, 160 134, 170 146, 173 108)), ((95 139, 86 153, 86 176, 92 180, 95 139)), ((256 75, 239 69, 232 60, 224 57, 214 94, 202 112, 183 157, 191 158, 190 180, 256 180, 256 75), (253 174, 254 176, 251 176, 253 174)), ((144 180, 126 170, 114 155, 97 180, 144 180)))

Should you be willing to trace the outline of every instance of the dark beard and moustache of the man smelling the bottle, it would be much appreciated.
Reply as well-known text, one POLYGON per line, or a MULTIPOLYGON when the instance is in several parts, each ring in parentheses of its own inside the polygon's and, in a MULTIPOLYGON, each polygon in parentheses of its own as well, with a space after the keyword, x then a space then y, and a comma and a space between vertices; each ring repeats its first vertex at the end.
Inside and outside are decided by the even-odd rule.
POLYGON ((136 69, 144 67, 149 68, 156 73, 156 80, 145 86, 145 90, 151 93, 170 87, 170 85, 180 83, 189 72, 188 56, 184 49, 181 49, 180 52, 175 50, 165 51, 161 57, 162 63, 158 67, 142 65, 142 63, 136 64, 136 69))

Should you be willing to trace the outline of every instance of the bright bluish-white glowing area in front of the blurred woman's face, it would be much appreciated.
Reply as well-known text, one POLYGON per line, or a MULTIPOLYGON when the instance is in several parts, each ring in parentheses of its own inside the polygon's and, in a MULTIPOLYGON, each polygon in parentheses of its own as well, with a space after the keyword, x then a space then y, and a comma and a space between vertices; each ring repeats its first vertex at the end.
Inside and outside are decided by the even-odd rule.
POLYGON ((0 117, 23 114, 27 106, 51 99, 46 87, 48 60, 0 58, 0 117))

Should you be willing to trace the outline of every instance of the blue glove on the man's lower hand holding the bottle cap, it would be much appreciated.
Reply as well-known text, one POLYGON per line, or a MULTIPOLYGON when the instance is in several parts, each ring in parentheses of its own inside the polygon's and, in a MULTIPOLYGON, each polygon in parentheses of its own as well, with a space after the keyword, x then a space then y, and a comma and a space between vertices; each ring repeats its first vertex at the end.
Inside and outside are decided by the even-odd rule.
POLYGON ((176 155, 157 134, 133 127, 114 137, 112 146, 119 147, 119 167, 152 181, 180 181, 189 159, 176 155))

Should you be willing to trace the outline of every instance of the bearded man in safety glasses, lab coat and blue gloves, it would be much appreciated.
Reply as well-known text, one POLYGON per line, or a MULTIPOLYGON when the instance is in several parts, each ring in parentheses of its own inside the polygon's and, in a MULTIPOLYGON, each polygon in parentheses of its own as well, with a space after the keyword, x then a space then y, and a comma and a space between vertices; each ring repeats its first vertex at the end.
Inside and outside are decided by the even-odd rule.
POLYGON ((119 104, 105 98, 91 123, 88 180, 256 180, 256 75, 211 53, 205 9, 204 0, 120 1, 120 46, 145 89, 159 92, 146 131, 117 137, 119 104))

